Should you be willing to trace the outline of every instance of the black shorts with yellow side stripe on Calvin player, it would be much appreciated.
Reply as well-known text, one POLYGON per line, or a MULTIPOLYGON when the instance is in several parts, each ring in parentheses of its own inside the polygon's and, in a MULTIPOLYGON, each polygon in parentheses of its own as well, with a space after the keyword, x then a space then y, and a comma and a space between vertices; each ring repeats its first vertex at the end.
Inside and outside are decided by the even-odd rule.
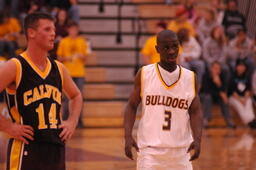
POLYGON ((65 170, 65 146, 10 139, 7 170, 65 170))

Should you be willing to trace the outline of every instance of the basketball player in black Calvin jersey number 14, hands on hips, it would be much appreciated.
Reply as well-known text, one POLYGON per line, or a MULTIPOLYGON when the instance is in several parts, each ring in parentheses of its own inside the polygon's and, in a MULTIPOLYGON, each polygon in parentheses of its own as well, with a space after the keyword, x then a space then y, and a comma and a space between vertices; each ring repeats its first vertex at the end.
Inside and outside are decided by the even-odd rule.
POLYGON ((12 122, 0 115, 10 135, 7 170, 65 170, 65 142, 76 128, 82 97, 66 68, 48 57, 55 39, 54 19, 45 13, 24 20, 27 49, 0 66, 0 92, 6 89, 12 122), (62 91, 70 115, 60 118, 62 91))

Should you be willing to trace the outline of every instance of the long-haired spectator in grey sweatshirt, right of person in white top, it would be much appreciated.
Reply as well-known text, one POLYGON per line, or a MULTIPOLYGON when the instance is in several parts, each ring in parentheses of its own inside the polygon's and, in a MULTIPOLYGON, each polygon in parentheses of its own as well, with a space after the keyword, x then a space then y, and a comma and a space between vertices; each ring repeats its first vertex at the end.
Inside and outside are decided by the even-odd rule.
POLYGON ((215 26, 211 30, 210 37, 203 43, 203 59, 208 69, 214 61, 221 64, 226 83, 229 79, 229 67, 226 64, 227 50, 227 40, 222 26, 215 26))

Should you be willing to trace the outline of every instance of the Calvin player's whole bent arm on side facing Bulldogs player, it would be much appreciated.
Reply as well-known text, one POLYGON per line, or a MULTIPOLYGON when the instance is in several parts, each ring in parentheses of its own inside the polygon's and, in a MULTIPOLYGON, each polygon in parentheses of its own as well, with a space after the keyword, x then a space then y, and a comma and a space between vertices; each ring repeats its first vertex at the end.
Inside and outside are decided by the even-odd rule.
POLYGON ((69 98, 69 117, 68 120, 62 121, 59 128, 62 128, 60 138, 63 141, 70 139, 75 131, 79 115, 82 109, 82 95, 79 89, 76 87, 72 78, 68 74, 67 69, 62 65, 63 70, 63 90, 69 98))

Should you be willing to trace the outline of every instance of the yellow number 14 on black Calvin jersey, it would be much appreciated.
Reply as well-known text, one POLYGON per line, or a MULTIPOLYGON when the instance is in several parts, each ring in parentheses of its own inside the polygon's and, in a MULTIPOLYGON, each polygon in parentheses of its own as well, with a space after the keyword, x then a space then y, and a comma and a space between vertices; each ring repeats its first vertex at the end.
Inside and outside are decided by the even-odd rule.
MULTIPOLYGON (((44 105, 39 104, 38 108, 36 108, 36 112, 38 114, 38 129, 47 129, 48 126, 45 123, 44 117, 44 105)), ((53 103, 50 108, 50 112, 48 114, 48 119, 50 123, 50 129, 57 129, 58 120, 56 119, 56 104, 53 103)))

